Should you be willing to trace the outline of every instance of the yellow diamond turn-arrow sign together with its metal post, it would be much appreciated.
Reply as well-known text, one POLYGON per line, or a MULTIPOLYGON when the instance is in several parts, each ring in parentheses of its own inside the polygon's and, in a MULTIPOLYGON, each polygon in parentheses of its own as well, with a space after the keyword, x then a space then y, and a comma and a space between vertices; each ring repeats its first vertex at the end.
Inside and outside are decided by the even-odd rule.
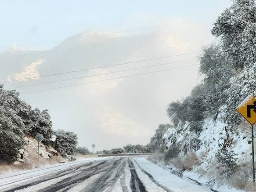
POLYGON ((242 103, 240 103, 240 105, 237 106, 236 111, 243 116, 252 127, 252 176, 253 183, 255 183, 253 125, 256 123, 256 98, 253 95, 249 95, 243 100, 242 103))

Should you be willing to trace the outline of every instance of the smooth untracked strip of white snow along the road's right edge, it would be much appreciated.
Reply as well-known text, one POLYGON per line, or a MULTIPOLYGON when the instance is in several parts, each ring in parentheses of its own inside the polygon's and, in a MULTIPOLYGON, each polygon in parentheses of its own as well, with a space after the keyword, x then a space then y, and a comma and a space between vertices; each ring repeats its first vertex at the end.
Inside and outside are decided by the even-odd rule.
POLYGON ((140 167, 151 174, 154 179, 161 185, 166 186, 173 192, 210 192, 208 188, 190 183, 170 172, 158 167, 156 164, 149 162, 146 158, 134 158, 140 167))

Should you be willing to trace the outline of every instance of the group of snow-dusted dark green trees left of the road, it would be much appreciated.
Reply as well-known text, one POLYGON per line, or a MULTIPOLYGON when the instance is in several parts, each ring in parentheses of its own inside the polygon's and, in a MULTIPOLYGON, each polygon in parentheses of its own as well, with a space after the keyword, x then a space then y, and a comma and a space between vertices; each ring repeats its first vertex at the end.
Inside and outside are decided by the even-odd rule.
POLYGON ((54 148, 62 156, 76 150, 77 135, 74 132, 54 131, 47 109, 32 109, 20 99, 19 92, 4 90, 0 85, 0 162, 17 161, 20 150, 25 147, 25 136, 34 138, 38 133, 44 136, 42 142, 46 148, 54 145, 51 138, 56 135, 54 148))

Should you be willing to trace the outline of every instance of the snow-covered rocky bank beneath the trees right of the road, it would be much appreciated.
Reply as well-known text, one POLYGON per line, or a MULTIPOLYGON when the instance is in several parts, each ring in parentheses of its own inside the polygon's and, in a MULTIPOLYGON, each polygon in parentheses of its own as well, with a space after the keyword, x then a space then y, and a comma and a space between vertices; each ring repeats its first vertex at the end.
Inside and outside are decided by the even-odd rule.
POLYGON ((180 124, 177 128, 169 128, 164 134, 165 146, 180 146, 180 156, 183 157, 190 152, 195 152, 198 156, 202 156, 202 164, 200 166, 208 169, 209 164, 214 162, 216 154, 223 146, 231 147, 237 158, 237 163, 243 164, 251 161, 252 145, 251 145, 251 127, 246 122, 237 126, 232 131, 227 129, 223 116, 225 108, 220 108, 216 120, 213 117, 204 120, 203 130, 200 136, 189 131, 188 123, 180 124))

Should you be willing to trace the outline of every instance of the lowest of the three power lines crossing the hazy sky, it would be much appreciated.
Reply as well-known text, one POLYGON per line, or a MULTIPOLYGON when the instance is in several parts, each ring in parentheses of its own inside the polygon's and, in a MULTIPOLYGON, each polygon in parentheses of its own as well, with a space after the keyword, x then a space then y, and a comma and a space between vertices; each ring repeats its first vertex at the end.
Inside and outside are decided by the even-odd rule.
POLYGON ((151 71, 151 72, 146 72, 146 73, 139 73, 139 74, 128 75, 128 76, 114 77, 114 78, 110 78, 110 79, 103 79, 103 80, 99 80, 99 81, 91 81, 91 82, 86 82, 86 83, 81 83, 81 84, 67 85, 67 86, 55 87, 55 88, 49 88, 49 89, 43 89, 43 90, 32 91, 32 92, 24 92, 24 93, 20 93, 20 94, 28 94, 28 93, 35 93, 35 92, 43 92, 43 91, 61 89, 61 88, 66 88, 66 87, 74 87, 74 86, 80 86, 80 85, 84 85, 84 84, 98 83, 98 82, 102 82, 102 81, 109 81, 109 80, 120 79, 120 78, 125 78, 125 77, 132 77, 132 76, 139 76, 139 75, 157 73, 157 72, 162 72, 162 71, 167 71, 167 70, 173 70, 173 69, 180 69, 180 68, 186 68, 186 67, 197 66, 197 65, 199 65, 199 64, 187 65, 187 66, 183 66, 183 67, 176 67, 176 68, 169 68, 169 69, 162 69, 162 70, 151 71))

